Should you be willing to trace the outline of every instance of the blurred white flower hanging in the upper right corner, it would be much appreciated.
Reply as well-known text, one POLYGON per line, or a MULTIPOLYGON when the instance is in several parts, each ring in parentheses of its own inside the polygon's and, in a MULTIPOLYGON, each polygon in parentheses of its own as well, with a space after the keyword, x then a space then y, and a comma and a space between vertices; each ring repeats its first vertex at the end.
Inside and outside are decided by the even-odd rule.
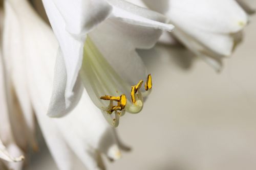
POLYGON ((216 70, 222 68, 221 59, 231 55, 237 34, 248 22, 247 14, 234 0, 143 2, 168 17, 176 26, 172 35, 216 70))

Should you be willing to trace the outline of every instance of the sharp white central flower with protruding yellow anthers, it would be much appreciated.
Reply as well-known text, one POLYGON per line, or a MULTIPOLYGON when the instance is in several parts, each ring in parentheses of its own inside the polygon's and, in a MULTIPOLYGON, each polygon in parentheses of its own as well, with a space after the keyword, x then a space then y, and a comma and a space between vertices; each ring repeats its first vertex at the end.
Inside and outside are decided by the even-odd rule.
MULTIPOLYGON (((113 126, 118 126, 125 110, 139 112, 151 88, 139 90, 146 69, 135 49, 152 47, 160 29, 171 31, 174 27, 162 23, 162 15, 122 0, 43 3, 60 45, 57 58, 63 58, 56 62, 48 115, 59 117, 72 110, 83 85, 113 126), (127 95, 131 95, 131 102, 127 95)), ((151 84, 151 76, 146 84, 151 84)))

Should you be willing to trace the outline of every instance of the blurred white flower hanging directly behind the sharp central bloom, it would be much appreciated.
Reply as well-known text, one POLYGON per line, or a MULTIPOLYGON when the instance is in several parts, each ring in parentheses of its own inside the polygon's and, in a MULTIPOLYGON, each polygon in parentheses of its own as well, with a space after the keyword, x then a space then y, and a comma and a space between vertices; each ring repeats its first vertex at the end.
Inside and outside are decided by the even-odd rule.
MULTIPOLYGON (((58 168, 74 169, 78 157, 88 169, 103 169, 101 153, 113 160, 120 158, 122 144, 86 92, 72 114, 59 119, 45 114, 53 84, 57 40, 26 0, 5 1, 5 4, 4 54, 11 61, 18 58, 25 61, 23 71, 16 74, 22 76, 25 72, 27 96, 58 168), (7 51, 17 51, 19 55, 7 51)), ((56 61, 63 63, 59 61, 62 59, 56 61)))

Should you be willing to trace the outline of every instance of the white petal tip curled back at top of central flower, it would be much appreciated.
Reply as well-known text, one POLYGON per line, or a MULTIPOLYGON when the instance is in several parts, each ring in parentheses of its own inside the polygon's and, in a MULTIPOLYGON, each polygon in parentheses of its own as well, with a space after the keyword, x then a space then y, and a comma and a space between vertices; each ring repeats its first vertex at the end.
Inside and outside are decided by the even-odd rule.
MULTIPOLYGON (((108 17, 112 10, 105 0, 53 0, 53 2, 65 20, 66 30, 74 35, 87 34, 108 17)), ((56 16, 48 14, 48 17, 56 16)))

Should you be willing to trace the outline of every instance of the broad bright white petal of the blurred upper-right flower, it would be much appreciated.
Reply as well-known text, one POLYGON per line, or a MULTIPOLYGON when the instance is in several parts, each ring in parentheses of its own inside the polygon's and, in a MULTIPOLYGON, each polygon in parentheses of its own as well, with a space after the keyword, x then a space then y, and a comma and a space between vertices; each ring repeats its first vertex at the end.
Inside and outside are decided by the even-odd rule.
POLYGON ((228 34, 240 31, 248 21, 246 13, 233 0, 174 0, 169 7, 166 15, 179 29, 222 55, 229 55, 232 50, 233 39, 228 34))

